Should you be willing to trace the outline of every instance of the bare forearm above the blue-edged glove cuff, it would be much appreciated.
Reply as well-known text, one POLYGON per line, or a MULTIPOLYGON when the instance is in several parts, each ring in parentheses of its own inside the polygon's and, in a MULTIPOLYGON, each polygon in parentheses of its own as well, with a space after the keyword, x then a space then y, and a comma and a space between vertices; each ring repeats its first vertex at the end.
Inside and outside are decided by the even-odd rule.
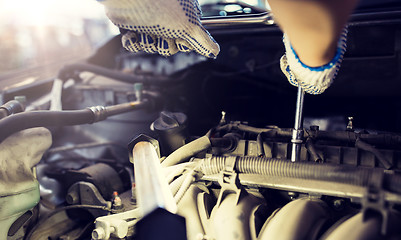
POLYGON ((334 57, 339 35, 357 1, 269 0, 269 4, 301 61, 317 67, 334 57))

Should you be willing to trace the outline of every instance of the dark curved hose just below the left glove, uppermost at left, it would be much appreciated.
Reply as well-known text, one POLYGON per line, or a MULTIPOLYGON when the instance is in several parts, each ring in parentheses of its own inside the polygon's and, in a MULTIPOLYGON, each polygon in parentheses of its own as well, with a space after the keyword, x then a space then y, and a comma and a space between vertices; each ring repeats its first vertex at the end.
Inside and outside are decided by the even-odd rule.
POLYGON ((69 78, 73 78, 77 72, 91 72, 126 83, 157 84, 168 80, 167 77, 158 77, 158 79, 156 80, 154 77, 135 76, 132 74, 122 73, 121 71, 112 70, 89 63, 74 63, 66 65, 59 71, 58 78, 66 81, 69 78))

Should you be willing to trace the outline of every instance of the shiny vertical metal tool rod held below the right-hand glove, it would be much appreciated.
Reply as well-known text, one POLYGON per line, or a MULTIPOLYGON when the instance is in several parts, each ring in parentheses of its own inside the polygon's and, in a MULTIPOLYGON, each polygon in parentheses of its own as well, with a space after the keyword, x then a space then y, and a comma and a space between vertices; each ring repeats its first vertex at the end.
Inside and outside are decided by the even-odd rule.
POLYGON ((297 103, 296 103, 296 110, 295 110, 295 124, 294 130, 292 130, 292 151, 291 151, 291 162, 299 161, 301 155, 301 147, 302 147, 302 137, 304 132, 302 130, 302 113, 303 113, 303 106, 304 106, 304 96, 305 91, 302 89, 301 86, 298 87, 297 93, 297 103))

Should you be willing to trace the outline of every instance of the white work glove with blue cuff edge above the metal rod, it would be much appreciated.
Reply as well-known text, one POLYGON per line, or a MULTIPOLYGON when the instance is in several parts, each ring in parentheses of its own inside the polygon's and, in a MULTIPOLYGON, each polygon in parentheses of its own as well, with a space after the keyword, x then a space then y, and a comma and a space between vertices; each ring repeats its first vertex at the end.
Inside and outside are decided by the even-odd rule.
POLYGON ((283 42, 286 53, 280 59, 281 71, 292 85, 296 87, 300 85, 305 92, 323 93, 330 87, 340 69, 347 48, 347 33, 348 30, 345 28, 338 41, 336 55, 329 63, 320 67, 309 67, 302 63, 292 48, 288 36, 284 34, 283 42))

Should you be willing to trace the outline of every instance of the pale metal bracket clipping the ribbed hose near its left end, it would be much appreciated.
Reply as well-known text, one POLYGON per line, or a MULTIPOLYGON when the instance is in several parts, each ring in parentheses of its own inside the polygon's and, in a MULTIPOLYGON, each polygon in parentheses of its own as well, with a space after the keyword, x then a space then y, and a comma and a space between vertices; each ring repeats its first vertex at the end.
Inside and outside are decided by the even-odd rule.
POLYGON ((238 174, 235 172, 237 157, 230 156, 225 158, 224 168, 220 171, 218 182, 221 186, 217 206, 220 206, 224 198, 229 194, 236 194, 236 203, 239 202, 241 195, 244 194, 238 174))

